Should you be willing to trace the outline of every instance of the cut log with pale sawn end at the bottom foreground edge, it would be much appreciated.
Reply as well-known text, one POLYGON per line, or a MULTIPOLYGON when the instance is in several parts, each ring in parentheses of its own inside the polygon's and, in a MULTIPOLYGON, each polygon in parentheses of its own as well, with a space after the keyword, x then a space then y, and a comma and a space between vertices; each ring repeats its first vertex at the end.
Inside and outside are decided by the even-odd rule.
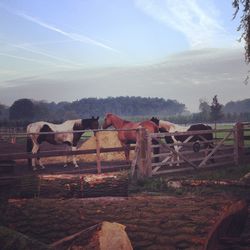
POLYGON ((65 237, 50 245, 55 250, 132 250, 125 226, 118 223, 102 222, 65 237))

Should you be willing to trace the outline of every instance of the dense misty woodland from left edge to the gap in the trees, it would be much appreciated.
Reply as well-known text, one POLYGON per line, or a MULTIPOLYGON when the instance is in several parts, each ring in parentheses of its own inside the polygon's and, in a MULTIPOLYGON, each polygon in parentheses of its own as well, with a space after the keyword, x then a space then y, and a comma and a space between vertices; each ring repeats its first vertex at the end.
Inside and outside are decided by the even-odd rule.
POLYGON ((149 97, 83 98, 74 102, 16 100, 10 107, 0 106, 0 121, 25 123, 46 120, 61 122, 111 112, 120 116, 169 116, 182 114, 186 106, 176 100, 149 97))

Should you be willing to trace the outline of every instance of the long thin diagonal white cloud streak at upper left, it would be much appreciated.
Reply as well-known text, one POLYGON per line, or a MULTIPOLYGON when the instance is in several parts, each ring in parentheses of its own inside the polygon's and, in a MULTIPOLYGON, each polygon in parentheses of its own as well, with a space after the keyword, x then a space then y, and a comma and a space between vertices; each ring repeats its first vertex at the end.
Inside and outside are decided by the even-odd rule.
POLYGON ((70 33, 70 32, 66 32, 60 28, 57 28, 51 24, 48 24, 48 23, 45 23, 41 20, 39 20, 38 18, 35 18, 35 17, 32 17, 32 16, 29 16, 29 15, 26 15, 24 13, 21 13, 21 12, 16 12, 16 15, 30 21, 30 22, 33 22, 35 24, 38 24, 40 25, 41 27, 44 27, 48 30, 51 30, 51 31, 54 31, 56 33, 59 33, 67 38, 70 38, 74 41, 78 41, 78 42, 82 42, 82 43, 88 43, 88 44, 92 44, 92 45, 95 45, 95 46, 98 46, 98 47, 102 47, 104 49, 107 49, 107 50, 111 50, 113 52, 118 52, 118 50, 104 44, 104 43, 101 43, 101 42, 98 42, 94 39, 91 39, 90 37, 87 37, 87 36, 84 36, 84 35, 81 35, 81 34, 77 34, 77 33, 70 33))

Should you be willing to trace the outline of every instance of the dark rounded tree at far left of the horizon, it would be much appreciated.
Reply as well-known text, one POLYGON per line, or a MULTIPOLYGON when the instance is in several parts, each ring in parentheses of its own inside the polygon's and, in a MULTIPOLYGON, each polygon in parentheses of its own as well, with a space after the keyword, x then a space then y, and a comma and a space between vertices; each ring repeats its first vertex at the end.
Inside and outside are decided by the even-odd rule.
POLYGON ((35 105, 30 99, 19 99, 9 109, 10 120, 32 120, 35 117, 35 105))

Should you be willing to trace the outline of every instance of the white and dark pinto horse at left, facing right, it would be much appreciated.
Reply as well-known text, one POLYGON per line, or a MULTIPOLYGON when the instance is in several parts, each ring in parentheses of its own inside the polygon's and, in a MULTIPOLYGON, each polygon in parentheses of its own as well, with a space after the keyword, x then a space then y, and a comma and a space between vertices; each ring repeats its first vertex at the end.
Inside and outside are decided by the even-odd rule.
MULTIPOLYGON (((27 152, 32 154, 40 151, 40 144, 44 141, 53 144, 66 144, 72 151, 76 150, 76 146, 84 133, 85 129, 98 129, 99 117, 91 119, 68 120, 61 124, 53 124, 49 122, 34 122, 27 126, 27 152), (74 132, 79 131, 79 132, 74 132), (51 133, 59 132, 59 133, 51 133), (47 133, 47 134, 46 134, 47 133)), ((76 157, 72 157, 73 164, 77 168, 76 157)), ((36 170, 36 164, 41 168, 45 168, 40 158, 29 159, 29 165, 32 165, 33 170, 36 170)), ((69 163, 69 156, 66 156, 65 167, 69 163)))

